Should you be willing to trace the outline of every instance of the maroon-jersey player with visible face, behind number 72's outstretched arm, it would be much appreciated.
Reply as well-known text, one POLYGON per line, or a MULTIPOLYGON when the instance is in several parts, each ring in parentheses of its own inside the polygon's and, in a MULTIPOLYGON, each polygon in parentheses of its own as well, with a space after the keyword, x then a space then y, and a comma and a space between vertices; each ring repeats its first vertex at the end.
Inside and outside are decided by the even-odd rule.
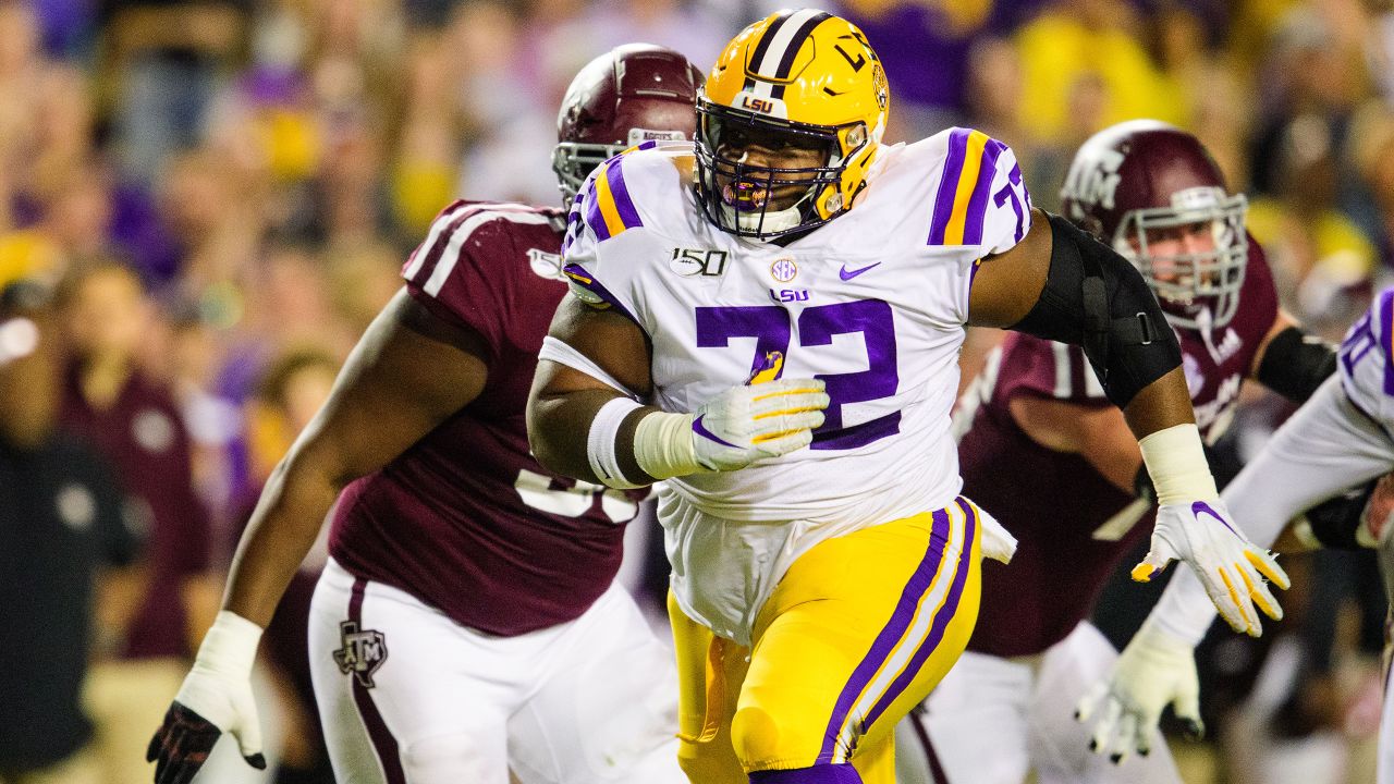
MULTIPOLYGON (((1330 347, 1278 308, 1263 250, 1243 227, 1243 197, 1225 190, 1190 134, 1146 120, 1107 128, 1080 148, 1062 197, 1068 218, 1153 286, 1206 442, 1228 427, 1245 378, 1305 399, 1334 370, 1330 347)), ((941 783, 1016 784, 1029 770, 1041 783, 1179 781, 1160 744, 1119 771, 1089 753, 1071 720, 1117 657, 1087 622, 1094 601, 1151 527, 1142 525, 1150 498, 1136 495, 1136 441, 1085 353, 1012 333, 958 416, 963 492, 1018 548, 1011 566, 984 565, 967 653, 902 746, 941 783)))

